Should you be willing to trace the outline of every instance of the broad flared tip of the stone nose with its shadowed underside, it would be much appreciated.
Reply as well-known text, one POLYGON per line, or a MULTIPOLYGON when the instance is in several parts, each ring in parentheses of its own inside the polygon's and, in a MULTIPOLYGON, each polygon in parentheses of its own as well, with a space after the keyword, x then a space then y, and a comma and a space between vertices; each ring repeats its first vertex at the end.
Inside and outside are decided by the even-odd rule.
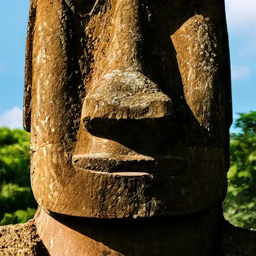
POLYGON ((175 113, 171 99, 142 73, 113 70, 85 97, 82 122, 105 138, 166 136, 174 130, 175 113))

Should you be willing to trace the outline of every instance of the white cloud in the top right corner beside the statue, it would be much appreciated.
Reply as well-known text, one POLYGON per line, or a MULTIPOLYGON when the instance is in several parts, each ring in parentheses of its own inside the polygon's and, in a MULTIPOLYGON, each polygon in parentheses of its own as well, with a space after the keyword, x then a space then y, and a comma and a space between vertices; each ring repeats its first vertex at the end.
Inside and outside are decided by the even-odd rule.
MULTIPOLYGON (((243 27, 245 30, 256 24, 255 0, 225 0, 226 18, 229 29, 243 27)), ((254 30, 255 31, 255 30, 254 30)))

